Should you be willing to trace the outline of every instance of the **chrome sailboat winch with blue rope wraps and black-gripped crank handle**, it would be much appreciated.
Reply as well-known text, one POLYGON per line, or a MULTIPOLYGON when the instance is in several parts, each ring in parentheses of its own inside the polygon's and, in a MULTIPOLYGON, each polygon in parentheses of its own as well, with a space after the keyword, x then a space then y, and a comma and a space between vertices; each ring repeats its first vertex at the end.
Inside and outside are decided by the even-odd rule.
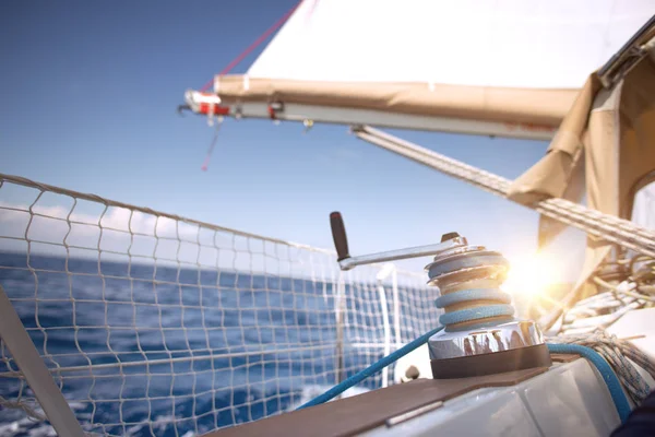
POLYGON ((509 270, 497 251, 468 245, 457 233, 441 243, 367 256, 350 257, 343 218, 330 215, 332 236, 342 270, 382 261, 434 256, 426 267, 429 284, 440 291, 436 299, 444 314, 443 330, 428 342, 434 379, 500 374, 551 365, 538 326, 513 317, 511 296, 500 290, 509 270))

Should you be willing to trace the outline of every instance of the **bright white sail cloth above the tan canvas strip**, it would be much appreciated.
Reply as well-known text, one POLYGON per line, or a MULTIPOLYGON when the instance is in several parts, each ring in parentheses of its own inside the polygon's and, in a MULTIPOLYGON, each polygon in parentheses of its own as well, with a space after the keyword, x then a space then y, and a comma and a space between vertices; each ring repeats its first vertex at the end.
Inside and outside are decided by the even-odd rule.
POLYGON ((248 75, 579 90, 654 12, 652 0, 306 0, 248 75))

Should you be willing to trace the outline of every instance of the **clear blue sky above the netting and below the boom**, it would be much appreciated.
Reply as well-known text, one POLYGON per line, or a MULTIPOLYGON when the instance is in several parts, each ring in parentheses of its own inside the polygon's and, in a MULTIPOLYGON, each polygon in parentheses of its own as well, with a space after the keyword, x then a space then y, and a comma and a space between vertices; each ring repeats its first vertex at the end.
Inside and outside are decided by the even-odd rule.
MULTIPOLYGON (((352 255, 437 243, 453 231, 510 258, 534 251, 536 213, 357 140, 346 126, 303 133, 298 123, 226 120, 201 170, 213 130, 176 114, 184 91, 294 4, 0 2, 0 173, 324 248, 338 210, 352 255)), ((547 146, 390 132, 510 179, 547 146)), ((404 265, 420 269, 425 259, 404 265)))

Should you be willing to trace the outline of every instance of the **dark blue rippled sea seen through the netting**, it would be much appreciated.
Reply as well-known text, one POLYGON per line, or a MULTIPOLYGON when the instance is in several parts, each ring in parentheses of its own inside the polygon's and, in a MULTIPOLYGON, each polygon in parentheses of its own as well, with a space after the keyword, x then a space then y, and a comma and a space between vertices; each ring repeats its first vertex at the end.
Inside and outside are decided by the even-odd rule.
MULTIPOLYGON (((35 255, 27 263, 25 255, 0 252, 0 284, 39 353, 52 356, 47 365, 79 366, 60 375, 78 417, 107 424, 88 430, 201 435, 290 410, 337 380, 332 283, 35 255)), ((346 288, 342 378, 382 356, 352 347, 383 338, 379 310, 361 297, 368 290, 346 288)), ((369 389, 379 385, 368 381, 369 389)), ((21 388, 32 395, 0 378, 5 399, 21 388)), ((0 408, 0 435, 53 434, 0 408)))

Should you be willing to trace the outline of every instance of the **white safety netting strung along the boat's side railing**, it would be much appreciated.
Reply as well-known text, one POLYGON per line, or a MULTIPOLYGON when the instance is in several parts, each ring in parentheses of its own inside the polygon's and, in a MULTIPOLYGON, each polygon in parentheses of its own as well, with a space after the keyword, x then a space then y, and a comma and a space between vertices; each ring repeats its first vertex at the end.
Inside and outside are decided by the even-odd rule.
MULTIPOLYGON (((0 285, 87 432, 189 437, 293 409, 436 326, 422 274, 379 272, 0 175, 0 285)), ((0 434, 44 428, 0 358, 0 434)))

